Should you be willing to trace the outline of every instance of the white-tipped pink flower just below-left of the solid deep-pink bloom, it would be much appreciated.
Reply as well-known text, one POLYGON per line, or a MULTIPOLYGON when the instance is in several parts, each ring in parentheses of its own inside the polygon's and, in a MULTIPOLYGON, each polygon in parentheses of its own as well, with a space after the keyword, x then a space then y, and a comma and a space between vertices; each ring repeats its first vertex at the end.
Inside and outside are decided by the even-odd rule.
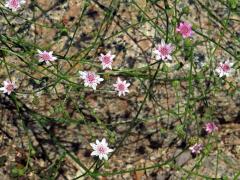
POLYGON ((157 48, 154 50, 154 53, 156 54, 157 60, 172 60, 171 53, 173 51, 173 47, 171 44, 165 44, 165 41, 162 40, 161 44, 157 45, 157 48))

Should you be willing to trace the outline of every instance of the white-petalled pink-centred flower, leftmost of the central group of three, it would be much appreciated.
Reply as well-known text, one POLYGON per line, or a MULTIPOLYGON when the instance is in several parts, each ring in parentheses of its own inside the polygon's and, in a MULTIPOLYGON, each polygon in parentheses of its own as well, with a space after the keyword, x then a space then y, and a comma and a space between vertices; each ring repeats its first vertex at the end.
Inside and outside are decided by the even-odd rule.
POLYGON ((85 87, 92 87, 96 90, 98 84, 103 81, 103 78, 100 78, 99 75, 96 75, 94 72, 90 71, 79 71, 80 77, 84 80, 85 87))

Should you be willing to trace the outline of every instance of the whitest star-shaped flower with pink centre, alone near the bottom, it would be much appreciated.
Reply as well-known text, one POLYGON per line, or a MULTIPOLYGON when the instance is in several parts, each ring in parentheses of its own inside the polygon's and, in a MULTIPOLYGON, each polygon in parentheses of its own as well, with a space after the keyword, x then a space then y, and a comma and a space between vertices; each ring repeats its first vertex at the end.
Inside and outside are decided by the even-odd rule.
POLYGON ((112 152, 113 149, 110 149, 108 147, 108 143, 106 142, 106 139, 103 138, 100 142, 98 139, 96 140, 96 144, 90 143, 90 145, 93 148, 93 152, 91 153, 91 156, 98 156, 99 159, 105 159, 108 160, 108 153, 112 152))

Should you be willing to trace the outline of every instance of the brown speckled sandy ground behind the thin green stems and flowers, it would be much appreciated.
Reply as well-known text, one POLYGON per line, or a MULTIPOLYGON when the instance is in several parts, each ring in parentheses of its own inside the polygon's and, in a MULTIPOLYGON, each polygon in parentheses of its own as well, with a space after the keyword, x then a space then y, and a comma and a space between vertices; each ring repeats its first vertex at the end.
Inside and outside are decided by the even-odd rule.
MULTIPOLYGON (((156 9, 151 9, 146 1, 136 2, 145 10, 149 18, 157 16, 156 9)), ((151 51, 154 44, 162 37, 156 34, 150 22, 141 23, 144 21, 144 18, 141 18, 143 12, 127 1, 113 1, 112 4, 110 0, 91 1, 82 18, 80 17, 84 10, 84 3, 80 0, 37 0, 36 3, 28 1, 20 11, 20 17, 9 16, 14 31, 8 29, 6 19, 0 17, 0 22, 3 24, 0 27, 1 32, 13 38, 17 37, 16 34, 25 37, 24 47, 15 47, 11 44, 13 49, 31 51, 28 56, 24 56, 27 64, 13 55, 8 55, 5 59, 11 65, 10 75, 18 82, 16 97, 19 107, 16 107, 13 98, 0 95, 0 176, 2 179, 14 179, 16 171, 21 173, 21 170, 27 167, 25 175, 20 179, 46 177, 72 179, 81 175, 83 169, 66 151, 72 152, 84 165, 90 167, 94 159, 90 156, 89 143, 96 138, 106 137, 110 146, 115 147, 114 145, 129 128, 144 99, 146 86, 149 85, 144 78, 153 74, 156 66, 152 67, 152 72, 139 70, 141 75, 146 74, 142 77, 142 81, 134 78, 130 70, 154 62, 151 51), (112 11, 112 16, 107 15, 110 4, 115 9, 112 11), (29 22, 34 20, 36 23, 26 22, 22 17, 29 22), (130 27, 131 25, 134 26, 130 27), (97 45, 88 51, 98 32, 101 38, 97 40, 97 45), (74 40, 71 42, 73 36, 74 40), (61 80, 54 88, 47 88, 48 85, 57 81, 58 77, 54 75, 54 72, 57 72, 56 68, 50 67, 49 71, 44 68, 44 65, 39 64, 34 56, 34 49, 29 49, 28 43, 36 44, 36 49, 53 50, 58 56, 56 63, 58 70, 61 72, 69 70, 67 77, 79 86, 70 88, 69 82, 61 80), (71 47, 68 49, 70 44, 71 47), (78 71, 91 69, 102 73, 97 57, 100 53, 110 50, 116 54, 113 71, 104 75, 106 81, 99 86, 98 91, 83 89, 78 71), (68 57, 73 57, 71 63, 75 66, 72 67, 62 58, 66 52, 68 57), (81 63, 83 60, 94 62, 96 66, 81 63), (36 69, 30 69, 29 64, 34 65, 36 69), (14 67, 23 69, 34 78, 14 67), (123 71, 126 69, 128 72, 123 71), (117 97, 113 91, 111 85, 116 81, 117 76, 131 82, 128 96, 117 97)), ((173 5, 173 2, 169 3, 170 6, 173 5)), ((199 9, 197 3, 182 2, 178 9, 181 10, 186 6, 189 7, 189 14, 184 15, 182 19, 191 22, 196 28, 201 28, 202 32, 216 41, 221 41, 222 45, 230 51, 231 44, 236 47, 234 46, 236 41, 231 39, 231 33, 226 32, 224 37, 219 36, 220 25, 212 21, 205 10, 199 9)), ((209 6, 218 17, 226 16, 224 14, 227 12, 226 8, 219 3, 210 3, 209 6)), ((163 3, 155 6, 159 9, 163 7, 163 3)), ((159 17, 157 21, 159 27, 165 26, 164 18, 159 17)), ((232 18, 239 18, 239 16, 233 14, 232 18)), ((236 21, 231 22, 230 25, 234 33, 240 32, 236 21)), ((204 38, 194 35, 194 42, 201 40, 204 38)), ((203 177, 194 176, 196 172, 205 176, 218 178, 225 176, 231 179, 239 172, 240 94, 239 90, 236 90, 239 88, 239 72, 227 79, 235 88, 225 83, 221 91, 210 91, 203 100, 196 100, 195 111, 189 116, 189 122, 193 122, 190 123, 189 129, 186 129, 188 137, 181 139, 176 131, 176 127, 180 125, 180 119, 170 110, 177 112, 176 104, 180 104, 179 112, 185 111, 188 82, 184 77, 188 73, 190 63, 183 53, 178 52, 176 57, 176 61, 168 65, 170 73, 158 74, 152 89, 153 95, 147 99, 138 117, 141 123, 132 129, 124 145, 101 168, 100 172, 151 167, 177 157, 168 165, 111 175, 102 179, 179 179, 180 177, 202 179, 203 177), (183 65, 181 70, 174 71, 179 64, 183 65), (172 83, 176 78, 183 79, 177 90, 179 98, 172 83), (233 95, 228 95, 228 92, 233 92, 233 95), (209 114, 212 115, 211 118, 209 114), (196 128, 209 120, 216 122, 219 126, 219 132, 211 137, 200 133, 196 128), (204 153, 208 155, 202 160, 203 156, 193 157, 188 150, 188 146, 196 139, 205 144, 210 141, 212 145, 210 149, 206 147, 204 153), (198 162, 200 166, 195 167, 198 162), (187 176, 189 172, 193 174, 187 176)), ((233 59, 219 47, 216 48, 214 58, 216 61, 222 58, 233 59)), ((194 51, 194 61, 197 72, 201 70, 202 63, 209 64, 207 46, 204 44, 198 46, 194 51)), ((205 81, 193 82, 195 97, 200 94, 199 89, 207 91, 208 84, 212 83, 209 72, 203 76, 209 78, 205 81)), ((1 80, 7 78, 3 63, 0 78, 1 80)))

